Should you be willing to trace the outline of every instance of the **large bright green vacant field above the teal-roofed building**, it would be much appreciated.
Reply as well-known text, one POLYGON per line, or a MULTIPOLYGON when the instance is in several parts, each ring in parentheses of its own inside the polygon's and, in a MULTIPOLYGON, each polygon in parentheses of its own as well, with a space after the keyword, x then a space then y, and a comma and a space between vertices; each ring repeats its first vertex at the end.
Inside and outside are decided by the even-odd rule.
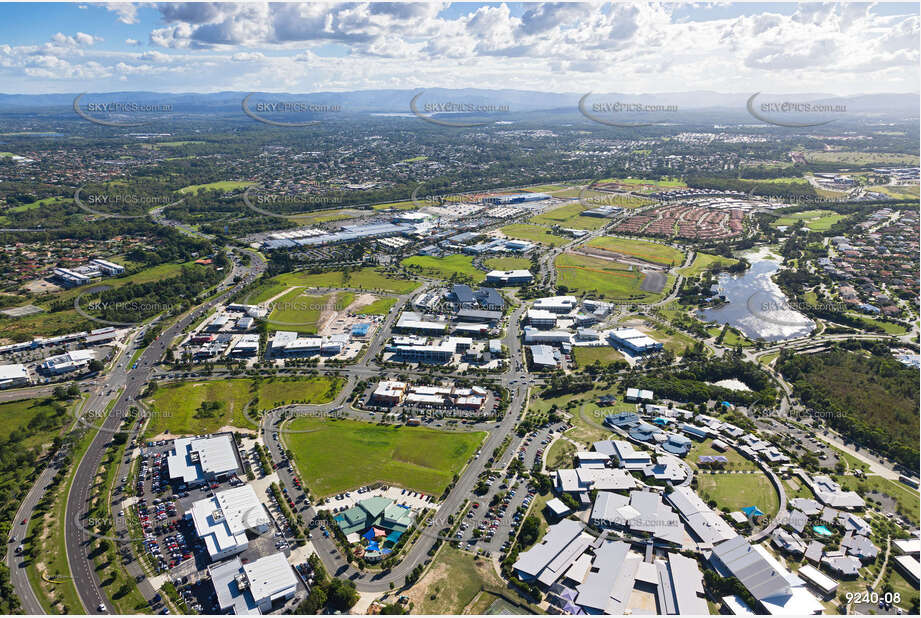
POLYGON ((312 417, 296 418, 286 428, 285 442, 303 480, 319 496, 373 481, 439 496, 486 437, 312 417))

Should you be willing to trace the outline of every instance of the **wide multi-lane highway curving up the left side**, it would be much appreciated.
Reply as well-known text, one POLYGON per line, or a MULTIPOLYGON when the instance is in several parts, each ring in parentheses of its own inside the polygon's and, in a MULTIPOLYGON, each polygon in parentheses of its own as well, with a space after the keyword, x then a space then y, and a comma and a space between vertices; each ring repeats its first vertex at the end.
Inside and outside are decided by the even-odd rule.
MULTIPOLYGON (((87 411, 101 412, 115 399, 112 412, 98 427, 96 436, 78 464, 67 496, 67 507, 65 509, 65 551, 67 552, 67 561, 70 566, 71 576, 74 578, 74 585, 80 596, 80 602, 87 613, 111 613, 110 603, 108 603, 108 599, 102 591, 99 577, 92 568, 93 563, 88 556, 90 543, 94 537, 88 532, 87 526, 82 523, 87 516, 92 497, 93 481, 105 450, 112 435, 121 424, 124 413, 134 405, 132 402, 138 398, 144 389, 147 380, 154 371, 154 365, 159 362, 173 338, 179 335, 193 321, 207 313, 212 307, 224 302, 237 290, 248 285, 262 274, 265 269, 264 260, 255 253, 250 253, 249 255, 251 256, 250 266, 243 269, 241 279, 236 285, 196 309, 190 310, 172 325, 165 328, 144 350, 134 366, 128 366, 130 357, 127 353, 123 354, 106 376, 101 388, 91 395, 85 406, 87 411), (114 389, 113 395, 108 394, 110 389, 114 389)), ((240 271, 235 267, 224 280, 225 283, 233 281, 237 274, 240 274, 240 271)))

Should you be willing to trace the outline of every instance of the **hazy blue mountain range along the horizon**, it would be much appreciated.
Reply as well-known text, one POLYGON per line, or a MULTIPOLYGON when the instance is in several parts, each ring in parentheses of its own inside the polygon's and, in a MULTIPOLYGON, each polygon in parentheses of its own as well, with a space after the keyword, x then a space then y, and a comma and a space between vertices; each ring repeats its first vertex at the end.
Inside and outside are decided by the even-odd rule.
MULTIPOLYGON (((424 111, 426 103, 452 103, 468 105, 507 106, 508 112, 570 111, 575 110, 586 93, 552 93, 529 90, 480 90, 444 89, 426 90, 359 90, 352 92, 313 93, 254 93, 250 106, 258 102, 288 102, 306 105, 338 105, 343 112, 352 113, 409 113, 410 101, 423 93, 417 100, 417 109, 424 111)), ((86 93, 80 100, 81 107, 89 103, 131 102, 138 104, 172 105, 173 110, 194 113, 195 111, 239 111, 244 97, 249 92, 215 93, 160 93, 160 92, 105 92, 86 93)), ((754 93, 719 93, 692 91, 658 94, 593 93, 586 106, 596 103, 643 103, 647 105, 675 105, 683 111, 715 111, 720 109, 744 110, 748 99, 754 93)), ((0 94, 0 112, 38 112, 50 108, 71 107, 79 93, 70 94, 0 94)), ((905 117, 921 112, 917 93, 866 94, 836 97, 822 93, 800 93, 775 95, 762 93, 757 102, 792 102, 811 104, 844 105, 848 113, 861 115, 905 117)))

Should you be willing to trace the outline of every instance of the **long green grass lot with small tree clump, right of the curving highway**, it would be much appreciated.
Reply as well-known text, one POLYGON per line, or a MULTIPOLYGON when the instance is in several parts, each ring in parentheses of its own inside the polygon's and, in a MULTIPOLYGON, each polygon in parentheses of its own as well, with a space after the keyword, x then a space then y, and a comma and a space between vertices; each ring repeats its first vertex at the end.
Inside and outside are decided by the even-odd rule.
POLYGON ((165 384, 148 400, 154 412, 146 435, 166 431, 173 434, 211 433, 225 425, 255 429, 244 413, 251 401, 255 400, 253 405, 256 409, 288 403, 328 403, 336 397, 342 384, 341 378, 325 376, 165 384), (199 413, 198 409, 205 401, 216 401, 220 407, 214 412, 199 413))

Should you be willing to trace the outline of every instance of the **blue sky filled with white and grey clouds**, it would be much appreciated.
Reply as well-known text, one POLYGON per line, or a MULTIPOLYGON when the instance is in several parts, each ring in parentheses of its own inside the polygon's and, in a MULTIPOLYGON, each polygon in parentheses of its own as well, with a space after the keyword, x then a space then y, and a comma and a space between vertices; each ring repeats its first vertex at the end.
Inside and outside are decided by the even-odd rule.
POLYGON ((915 3, 0 3, 0 92, 918 92, 915 3))

